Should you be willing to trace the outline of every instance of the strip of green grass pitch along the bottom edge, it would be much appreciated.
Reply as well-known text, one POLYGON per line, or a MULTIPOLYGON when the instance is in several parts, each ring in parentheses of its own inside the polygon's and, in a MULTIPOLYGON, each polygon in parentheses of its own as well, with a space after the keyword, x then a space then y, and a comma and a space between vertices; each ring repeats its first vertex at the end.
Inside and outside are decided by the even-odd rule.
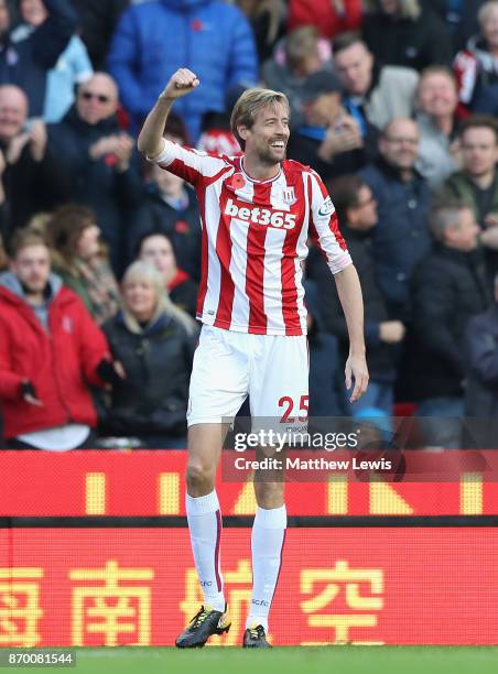
POLYGON ((259 652, 235 648, 88 648, 76 649, 75 667, 57 670, 77 674, 497 674, 498 646, 340 645, 259 652))

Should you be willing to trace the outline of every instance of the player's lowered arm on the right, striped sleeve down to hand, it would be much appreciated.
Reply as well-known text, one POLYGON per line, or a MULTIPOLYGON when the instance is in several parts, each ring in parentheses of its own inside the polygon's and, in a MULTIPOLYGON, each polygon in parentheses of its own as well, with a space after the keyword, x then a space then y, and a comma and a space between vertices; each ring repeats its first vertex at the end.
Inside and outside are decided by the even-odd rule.
POLYGON ((368 387, 368 368, 364 335, 364 300, 356 268, 340 235, 334 204, 321 177, 312 172, 308 183, 310 229, 334 274, 349 335, 349 356, 346 361, 346 388, 355 387, 350 402, 355 402, 368 387))

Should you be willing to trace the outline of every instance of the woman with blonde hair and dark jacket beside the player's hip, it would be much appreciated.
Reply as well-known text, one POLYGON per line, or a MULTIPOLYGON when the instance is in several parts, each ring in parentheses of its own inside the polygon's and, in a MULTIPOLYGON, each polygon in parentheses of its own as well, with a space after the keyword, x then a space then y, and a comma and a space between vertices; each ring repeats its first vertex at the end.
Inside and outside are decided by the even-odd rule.
POLYGON ((147 262, 124 272, 122 298, 121 312, 102 326, 122 373, 112 383, 102 431, 138 437, 144 447, 184 447, 197 326, 147 262))

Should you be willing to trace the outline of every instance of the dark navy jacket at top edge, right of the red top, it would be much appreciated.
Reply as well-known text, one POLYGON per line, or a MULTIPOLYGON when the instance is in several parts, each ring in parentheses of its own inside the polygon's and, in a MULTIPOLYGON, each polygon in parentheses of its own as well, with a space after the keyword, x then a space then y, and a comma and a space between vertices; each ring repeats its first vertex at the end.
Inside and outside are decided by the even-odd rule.
POLYGON ((362 33, 376 58, 386 65, 422 70, 430 65, 450 65, 452 43, 440 17, 424 7, 418 19, 400 19, 382 11, 366 14, 362 33))

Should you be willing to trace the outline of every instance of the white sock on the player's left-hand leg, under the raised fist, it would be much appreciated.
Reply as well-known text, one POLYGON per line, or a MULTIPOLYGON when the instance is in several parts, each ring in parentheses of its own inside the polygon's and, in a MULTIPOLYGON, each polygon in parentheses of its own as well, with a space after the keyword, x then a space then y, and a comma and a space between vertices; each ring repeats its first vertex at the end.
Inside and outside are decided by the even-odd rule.
POLYGON ((186 494, 186 513, 195 567, 205 604, 225 610, 225 595, 219 563, 221 512, 216 491, 204 497, 186 494))

